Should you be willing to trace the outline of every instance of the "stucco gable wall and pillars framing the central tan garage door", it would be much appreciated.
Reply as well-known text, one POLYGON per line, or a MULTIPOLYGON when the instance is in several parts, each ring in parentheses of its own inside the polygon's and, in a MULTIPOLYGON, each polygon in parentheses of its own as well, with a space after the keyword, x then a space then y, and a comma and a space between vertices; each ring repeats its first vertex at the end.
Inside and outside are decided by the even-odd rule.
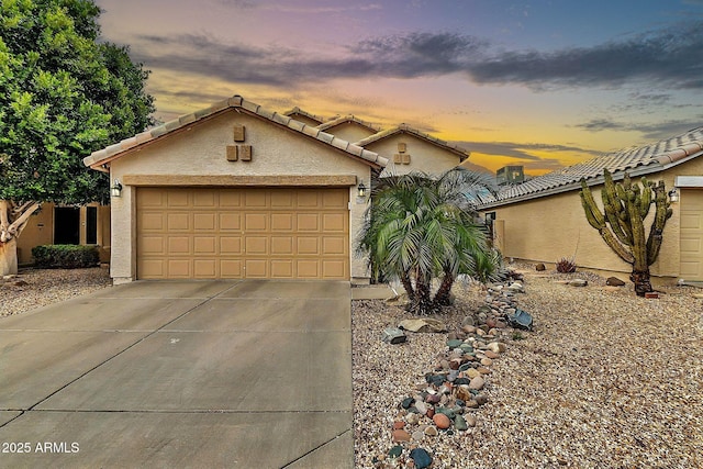
MULTIPOLYGON (((370 167, 328 145, 269 121, 230 110, 191 130, 125 155, 111 165, 111 179, 126 175, 237 175, 237 176, 356 176, 370 187, 370 167), (252 145, 252 161, 227 161, 226 146, 234 145, 233 126, 245 126, 252 145)), ((112 199, 112 263, 115 282, 135 276, 135 188, 123 185, 122 197, 112 199)), ((349 238, 354 246, 361 226, 366 201, 357 200, 356 186, 349 187, 349 238)), ((367 278, 366 264, 350 248, 353 278, 367 278)))

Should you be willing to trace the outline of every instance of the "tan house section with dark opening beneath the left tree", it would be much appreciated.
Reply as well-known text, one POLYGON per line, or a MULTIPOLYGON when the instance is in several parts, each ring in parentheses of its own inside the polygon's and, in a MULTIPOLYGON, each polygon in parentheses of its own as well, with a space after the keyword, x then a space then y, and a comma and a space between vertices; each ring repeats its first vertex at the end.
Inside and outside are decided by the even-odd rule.
POLYGON ((32 248, 49 244, 97 245, 100 260, 110 257, 110 208, 98 203, 56 205, 43 203, 18 238, 18 263, 34 263, 32 248))

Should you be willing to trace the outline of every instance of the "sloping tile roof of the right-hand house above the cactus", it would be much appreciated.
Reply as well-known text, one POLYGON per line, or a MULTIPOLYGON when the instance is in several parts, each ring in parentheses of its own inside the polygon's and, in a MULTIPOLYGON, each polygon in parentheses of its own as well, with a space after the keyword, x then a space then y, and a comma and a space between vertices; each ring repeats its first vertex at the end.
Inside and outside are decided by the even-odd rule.
POLYGON ((616 178, 618 174, 623 175, 625 171, 633 176, 644 176, 668 169, 701 155, 703 155, 703 126, 650 145, 607 153, 523 183, 505 187, 484 206, 498 206, 574 190, 580 188, 581 178, 590 185, 598 185, 602 182, 605 169, 616 178))

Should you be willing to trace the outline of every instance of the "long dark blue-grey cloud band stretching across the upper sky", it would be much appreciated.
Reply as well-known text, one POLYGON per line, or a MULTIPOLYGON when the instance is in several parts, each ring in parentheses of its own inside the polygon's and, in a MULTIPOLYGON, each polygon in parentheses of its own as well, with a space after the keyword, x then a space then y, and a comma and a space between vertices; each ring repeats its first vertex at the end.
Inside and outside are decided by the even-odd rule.
MULTIPOLYGON (((246 1, 238 1, 246 4, 246 1)), ((671 89, 703 88, 703 29, 672 26, 593 47, 556 52, 495 51, 486 40, 451 32, 367 38, 343 53, 226 43, 209 35, 143 35, 132 51, 147 68, 216 76, 230 81, 290 85, 354 78, 461 74, 481 85, 620 87, 643 81, 671 89)), ((659 97, 662 99, 662 97, 659 97)))

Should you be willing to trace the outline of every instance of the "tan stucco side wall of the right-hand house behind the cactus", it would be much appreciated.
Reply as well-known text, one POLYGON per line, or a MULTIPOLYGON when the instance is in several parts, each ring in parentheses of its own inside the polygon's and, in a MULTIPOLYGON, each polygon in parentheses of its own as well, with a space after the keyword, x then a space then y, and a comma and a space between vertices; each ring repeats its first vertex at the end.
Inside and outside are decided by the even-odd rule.
MULTIPOLYGON (((663 180, 668 191, 673 187, 676 176, 696 175, 703 175, 703 158, 681 164, 665 172, 648 175, 647 179, 663 180)), ((591 190, 602 208, 602 186, 591 190)), ((665 227, 658 260, 651 266, 651 273, 655 276, 679 275, 679 203, 671 204, 673 215, 665 227)), ((580 267, 627 273, 632 270, 588 223, 578 190, 487 210, 493 211, 496 215, 496 236, 502 237, 496 242, 505 257, 555 263, 561 257, 576 254, 576 261, 580 267)), ((645 221, 647 234, 654 206, 645 221)))

